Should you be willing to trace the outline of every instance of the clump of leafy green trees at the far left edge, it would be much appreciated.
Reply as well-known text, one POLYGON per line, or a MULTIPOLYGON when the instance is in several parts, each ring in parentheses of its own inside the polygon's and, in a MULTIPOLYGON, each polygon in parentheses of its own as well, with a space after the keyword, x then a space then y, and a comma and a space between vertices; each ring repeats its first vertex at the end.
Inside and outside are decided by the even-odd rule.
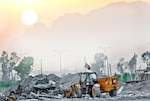
POLYGON ((16 78, 13 71, 17 73, 17 76, 23 80, 32 71, 34 58, 31 56, 21 58, 16 52, 10 54, 6 51, 2 51, 0 56, 0 68, 2 72, 2 81, 10 81, 16 78))

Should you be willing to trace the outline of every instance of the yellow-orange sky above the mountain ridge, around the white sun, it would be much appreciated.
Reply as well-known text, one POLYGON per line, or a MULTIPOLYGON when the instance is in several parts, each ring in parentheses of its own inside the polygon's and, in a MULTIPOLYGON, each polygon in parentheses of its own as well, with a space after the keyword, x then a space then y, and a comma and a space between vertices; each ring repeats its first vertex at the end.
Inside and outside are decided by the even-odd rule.
POLYGON ((7 49, 13 38, 21 36, 26 28, 31 27, 23 25, 20 20, 24 10, 35 10, 38 14, 37 23, 50 27, 54 20, 66 13, 86 14, 119 1, 136 0, 0 0, 0 50, 7 49))

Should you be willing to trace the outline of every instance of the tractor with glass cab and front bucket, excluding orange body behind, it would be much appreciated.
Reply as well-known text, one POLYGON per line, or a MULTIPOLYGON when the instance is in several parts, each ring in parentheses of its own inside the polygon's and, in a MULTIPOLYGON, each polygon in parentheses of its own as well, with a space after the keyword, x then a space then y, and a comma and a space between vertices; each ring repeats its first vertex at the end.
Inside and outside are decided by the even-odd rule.
POLYGON ((63 90, 64 97, 81 98, 84 94, 91 97, 100 97, 100 85, 97 83, 95 72, 79 73, 80 80, 77 84, 72 84, 71 89, 63 90))

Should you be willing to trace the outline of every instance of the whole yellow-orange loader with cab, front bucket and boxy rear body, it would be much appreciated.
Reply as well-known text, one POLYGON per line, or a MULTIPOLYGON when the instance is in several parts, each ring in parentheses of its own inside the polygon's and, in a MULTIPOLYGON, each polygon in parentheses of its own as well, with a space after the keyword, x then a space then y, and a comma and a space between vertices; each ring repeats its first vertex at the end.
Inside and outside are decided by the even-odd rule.
POLYGON ((69 90, 63 90, 64 97, 81 98, 84 94, 91 97, 100 97, 101 93, 109 93, 111 97, 117 95, 118 78, 101 77, 97 78, 95 72, 79 73, 80 80, 77 84, 71 84, 69 90))

